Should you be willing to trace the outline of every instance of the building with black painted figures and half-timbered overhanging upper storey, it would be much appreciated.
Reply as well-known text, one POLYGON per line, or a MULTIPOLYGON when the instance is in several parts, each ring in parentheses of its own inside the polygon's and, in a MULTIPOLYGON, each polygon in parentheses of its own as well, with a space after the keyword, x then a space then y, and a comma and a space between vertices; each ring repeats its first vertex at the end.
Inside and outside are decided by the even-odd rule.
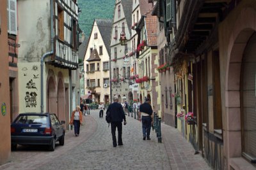
POLYGON ((49 111, 69 122, 79 104, 77 1, 18 1, 18 8, 19 112, 49 111))

